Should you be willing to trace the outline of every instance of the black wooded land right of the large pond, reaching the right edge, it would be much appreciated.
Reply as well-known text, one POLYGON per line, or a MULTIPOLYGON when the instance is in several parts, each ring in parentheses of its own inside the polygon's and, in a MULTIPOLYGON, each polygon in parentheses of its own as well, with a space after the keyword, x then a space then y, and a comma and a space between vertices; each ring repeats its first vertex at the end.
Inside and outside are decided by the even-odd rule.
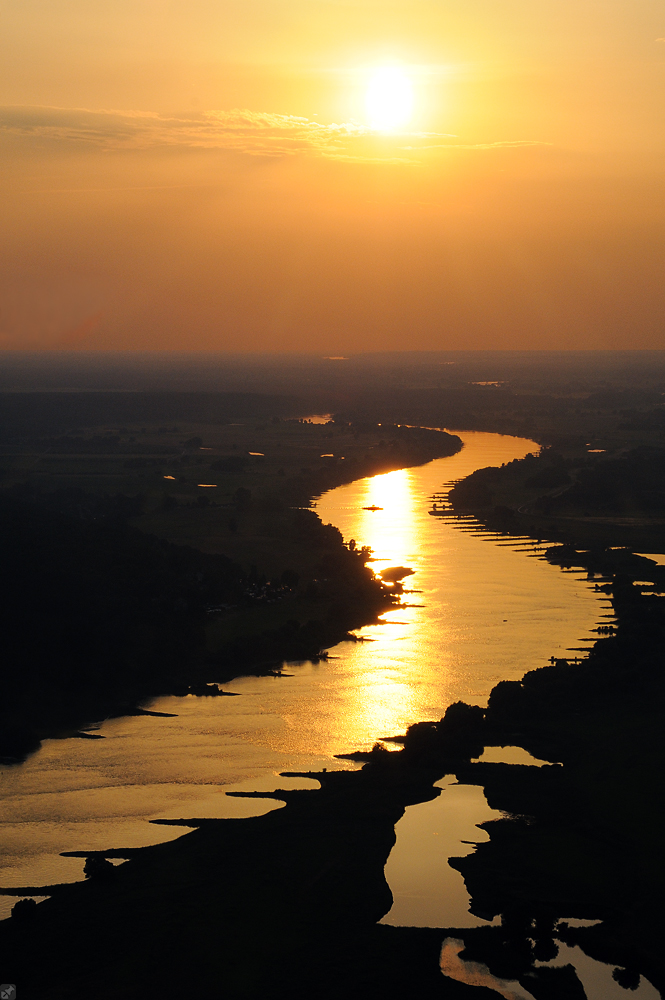
POLYGON ((534 958, 553 953, 558 921, 600 920, 559 928, 557 936, 663 990, 665 600, 656 594, 665 591, 665 569, 624 550, 562 546, 548 557, 609 578, 601 586, 617 621, 581 664, 531 671, 490 696, 485 739, 491 734, 492 745, 522 746, 562 766, 471 764, 458 771, 459 780, 484 787, 490 806, 510 814, 486 824, 490 841, 455 863, 474 912, 503 915, 503 930, 470 936, 469 957, 488 942, 495 974, 520 978, 534 958))

